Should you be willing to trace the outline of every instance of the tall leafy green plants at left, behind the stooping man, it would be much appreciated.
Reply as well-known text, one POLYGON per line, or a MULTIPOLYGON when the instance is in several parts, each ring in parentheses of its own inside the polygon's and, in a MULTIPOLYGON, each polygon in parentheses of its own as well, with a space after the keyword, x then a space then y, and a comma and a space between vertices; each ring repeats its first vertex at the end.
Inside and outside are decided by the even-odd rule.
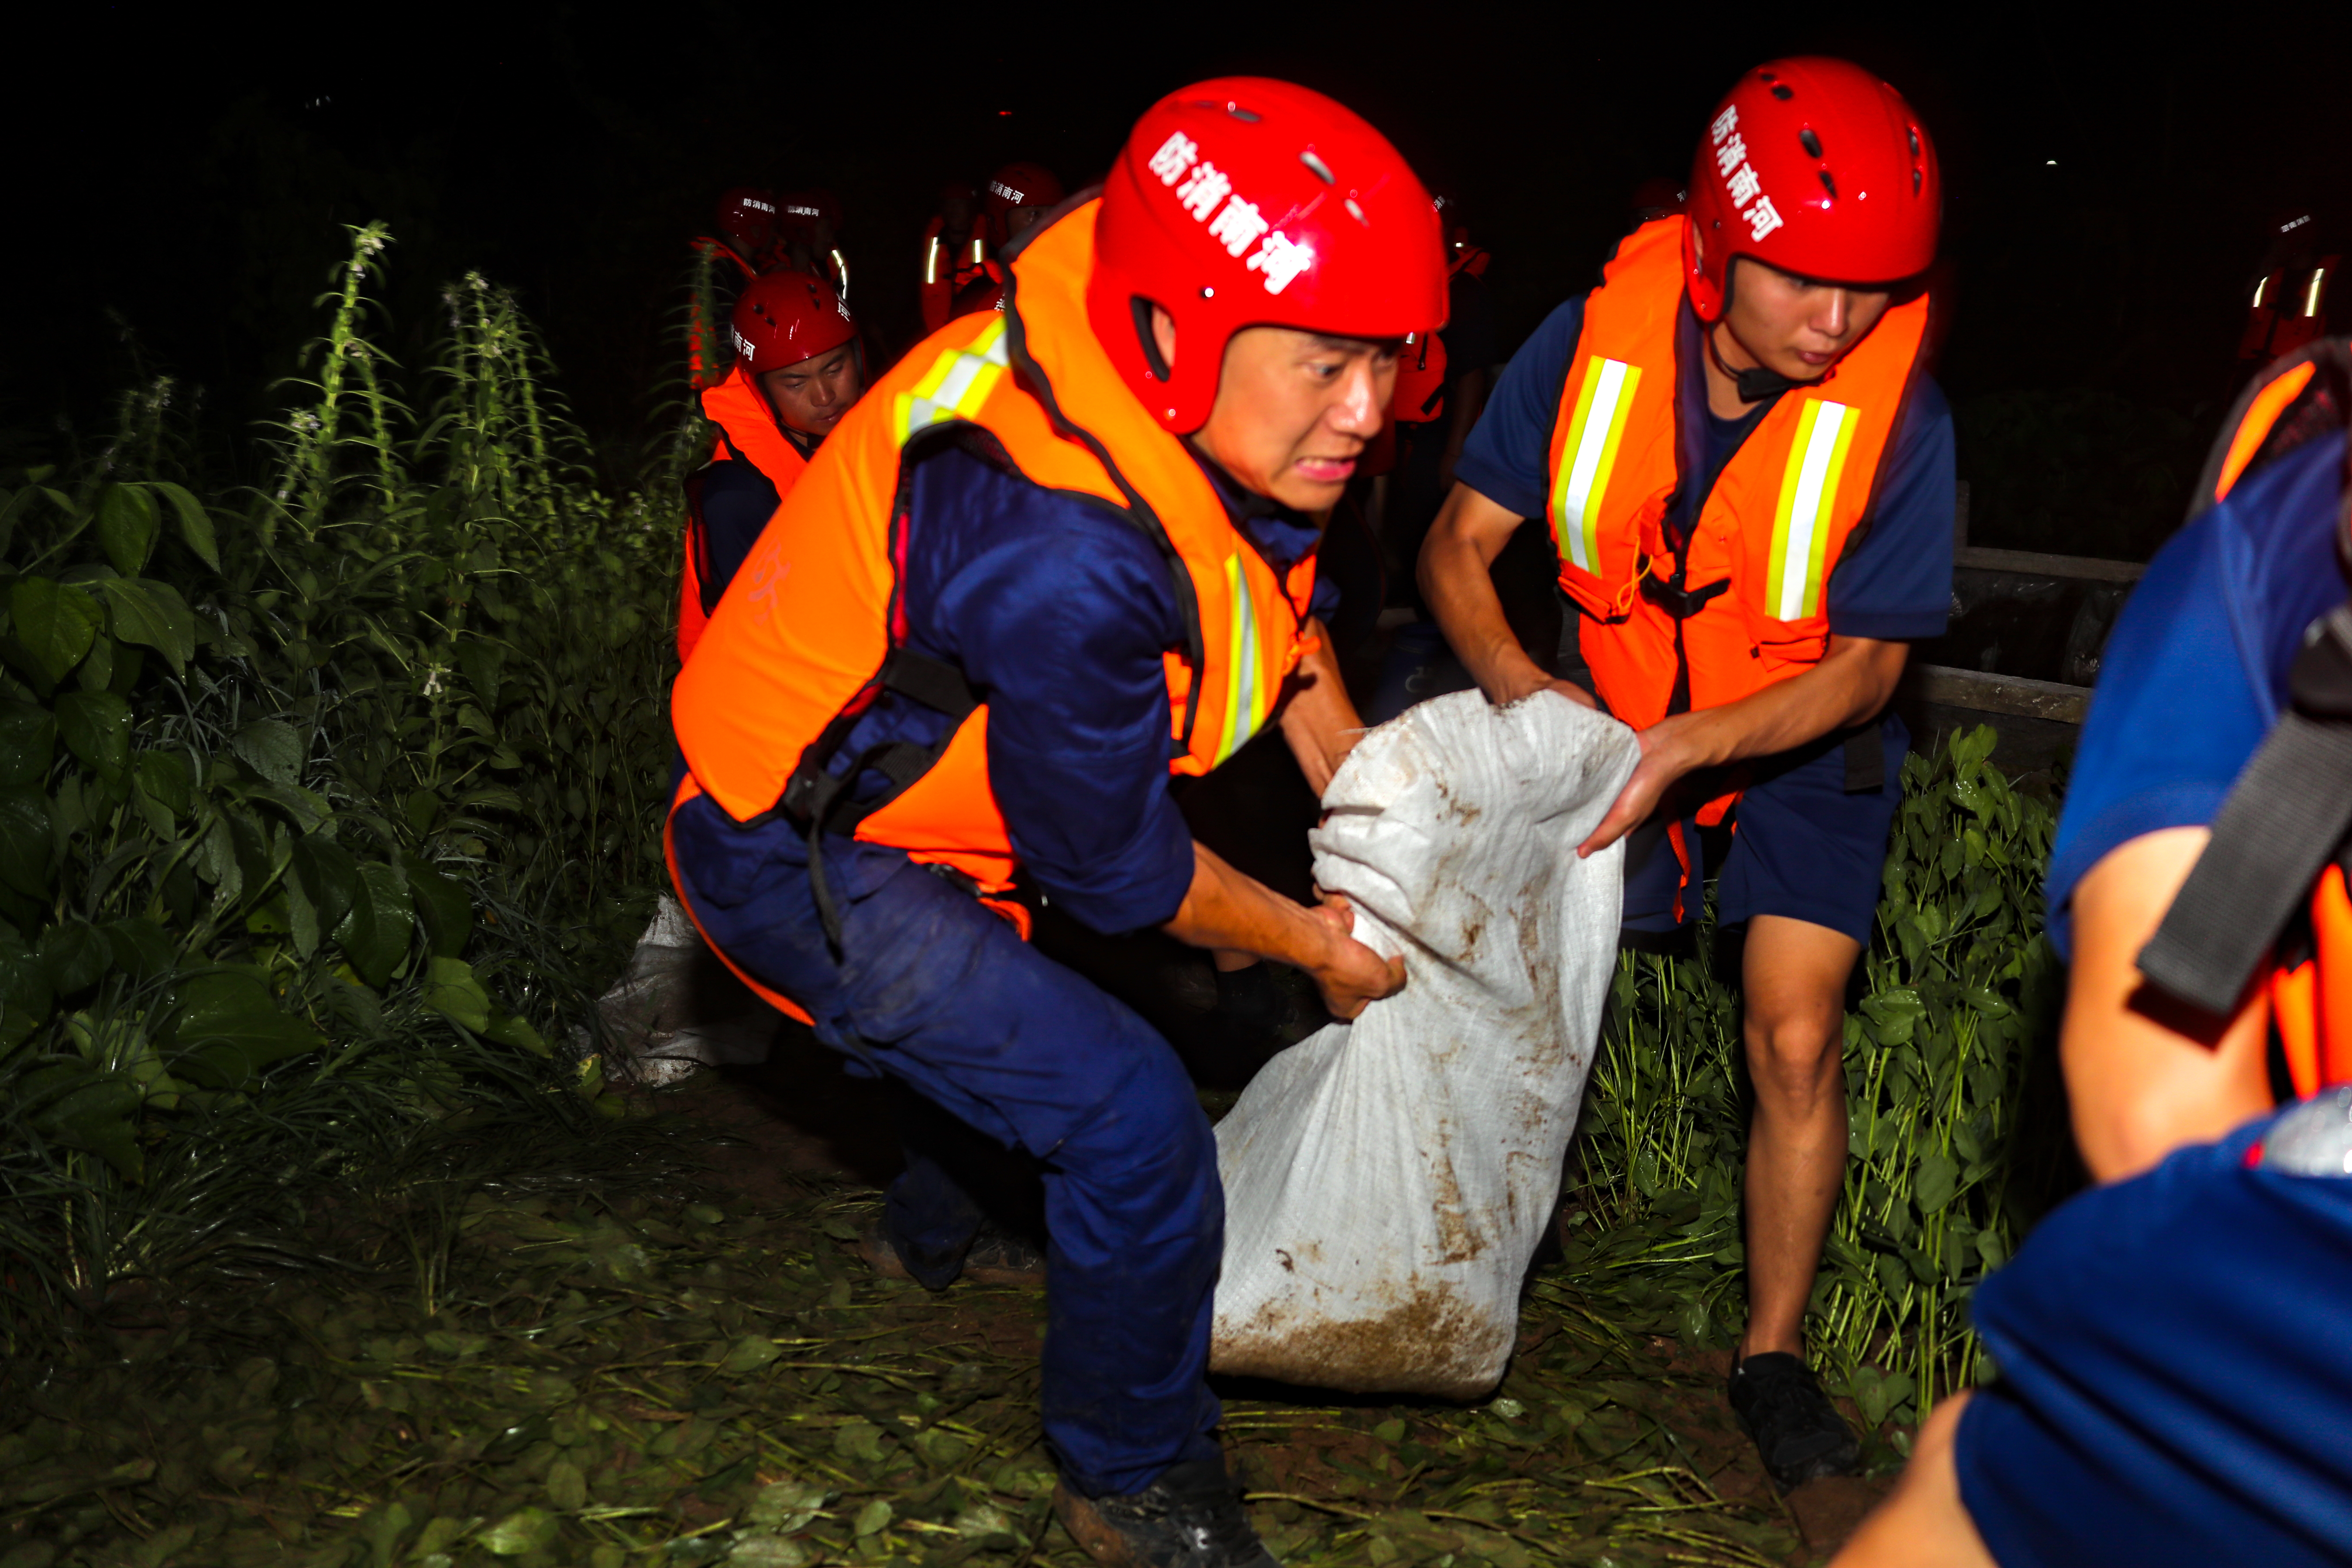
POLYGON ((383 244, 322 296, 270 487, 174 482, 158 390, 0 491, 7 1354, 296 1260, 421 1128, 600 1088, 548 1041, 659 877, 675 520, 588 482, 480 277, 412 409, 383 244))

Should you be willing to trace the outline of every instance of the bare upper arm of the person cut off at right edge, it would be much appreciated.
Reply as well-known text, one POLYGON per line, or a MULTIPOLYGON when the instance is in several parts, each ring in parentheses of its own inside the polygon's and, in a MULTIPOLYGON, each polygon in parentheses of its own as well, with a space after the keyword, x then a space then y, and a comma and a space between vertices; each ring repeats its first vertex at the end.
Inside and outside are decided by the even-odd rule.
POLYGON ((2112 849, 2074 889, 2074 973, 2058 1063, 2074 1143, 2103 1182, 2147 1171, 2270 1110, 2270 1009, 2260 990, 2225 1020, 2152 990, 2138 969, 2211 835, 2166 827, 2112 849))

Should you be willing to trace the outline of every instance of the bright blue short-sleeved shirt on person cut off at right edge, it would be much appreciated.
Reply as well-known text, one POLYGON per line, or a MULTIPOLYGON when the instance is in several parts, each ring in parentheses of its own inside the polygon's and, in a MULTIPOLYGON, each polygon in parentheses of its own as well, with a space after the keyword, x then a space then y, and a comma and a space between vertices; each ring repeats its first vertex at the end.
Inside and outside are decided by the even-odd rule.
POLYGON ((2150 562, 2100 656, 2051 849, 2051 940, 2107 851, 2201 827, 2286 708, 2303 630, 2345 599, 2345 437, 2253 470, 2150 562))

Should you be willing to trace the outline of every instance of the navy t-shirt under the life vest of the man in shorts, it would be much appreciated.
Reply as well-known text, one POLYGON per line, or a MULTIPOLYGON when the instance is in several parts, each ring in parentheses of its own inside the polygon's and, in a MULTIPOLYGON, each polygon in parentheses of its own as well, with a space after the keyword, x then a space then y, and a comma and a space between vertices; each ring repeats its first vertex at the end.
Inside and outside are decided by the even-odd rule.
MULTIPOLYGON (((1454 465, 1454 477, 1519 517, 1545 515, 1552 421, 1559 416, 1559 388, 1583 327, 1583 299, 1571 299, 1545 317, 1503 369, 1454 465)), ((1675 331, 1675 383, 1691 447, 1682 473, 1698 475, 1700 484, 1684 482, 1675 494, 1670 520, 1677 527, 1689 527, 1698 515, 1715 475, 1771 407, 1762 402, 1745 418, 1717 418, 1708 409, 1703 353, 1698 317, 1684 301, 1675 331)), ((1919 376, 1903 404, 1893 454, 1865 527, 1846 543, 1830 574, 1832 632, 1884 639, 1943 635, 1952 614, 1952 409, 1943 388, 1919 376)))

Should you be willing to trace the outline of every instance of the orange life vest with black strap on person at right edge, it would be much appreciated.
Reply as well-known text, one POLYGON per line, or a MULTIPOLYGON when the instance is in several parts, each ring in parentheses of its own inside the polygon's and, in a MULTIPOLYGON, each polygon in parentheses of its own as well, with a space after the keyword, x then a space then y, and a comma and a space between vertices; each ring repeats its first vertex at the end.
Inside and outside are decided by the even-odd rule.
MULTIPOLYGON (((2270 364, 2213 442, 2190 517, 2253 468, 2343 430, 2347 407, 2345 339, 2270 364)), ((2336 527, 2338 559, 2352 562, 2352 515, 2336 527)), ((2352 1084, 2352 604, 2312 628, 2288 684, 2291 708, 2230 788, 2138 966, 2216 1018, 2260 976, 2286 1077, 2307 1098, 2352 1084)))

